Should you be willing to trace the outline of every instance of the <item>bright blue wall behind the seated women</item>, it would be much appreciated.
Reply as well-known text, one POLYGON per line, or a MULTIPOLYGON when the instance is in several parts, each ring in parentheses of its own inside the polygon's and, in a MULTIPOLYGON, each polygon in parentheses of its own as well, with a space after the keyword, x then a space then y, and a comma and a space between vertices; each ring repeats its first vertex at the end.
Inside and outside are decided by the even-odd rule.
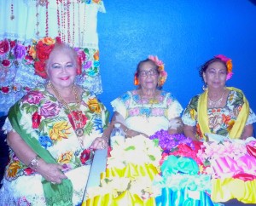
POLYGON ((248 0, 104 1, 98 14, 102 102, 135 89, 138 61, 158 55, 168 72, 164 85, 183 107, 201 93, 198 68, 215 54, 233 60, 227 86, 242 89, 256 112, 256 6, 248 0))

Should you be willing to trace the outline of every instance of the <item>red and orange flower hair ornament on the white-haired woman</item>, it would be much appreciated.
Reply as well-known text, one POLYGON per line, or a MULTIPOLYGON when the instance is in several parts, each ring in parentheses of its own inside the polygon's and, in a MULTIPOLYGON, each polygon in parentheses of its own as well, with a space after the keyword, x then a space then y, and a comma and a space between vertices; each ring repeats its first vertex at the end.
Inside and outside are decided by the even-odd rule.
MULTIPOLYGON (((49 59, 49 54, 55 48, 55 43, 61 43, 61 37, 44 37, 38 41, 33 41, 32 46, 28 50, 28 54, 34 60, 35 74, 42 78, 47 78, 46 60, 49 59)), ((81 60, 78 56, 77 74, 81 74, 81 60)))

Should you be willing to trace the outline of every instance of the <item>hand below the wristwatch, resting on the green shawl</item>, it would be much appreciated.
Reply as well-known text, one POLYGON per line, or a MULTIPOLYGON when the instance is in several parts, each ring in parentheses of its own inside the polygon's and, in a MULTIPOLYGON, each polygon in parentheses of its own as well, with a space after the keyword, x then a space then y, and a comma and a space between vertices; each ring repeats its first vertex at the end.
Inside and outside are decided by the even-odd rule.
POLYGON ((67 176, 61 171, 62 166, 55 163, 45 163, 43 159, 39 159, 37 172, 42 175, 45 180, 53 184, 61 184, 67 176))

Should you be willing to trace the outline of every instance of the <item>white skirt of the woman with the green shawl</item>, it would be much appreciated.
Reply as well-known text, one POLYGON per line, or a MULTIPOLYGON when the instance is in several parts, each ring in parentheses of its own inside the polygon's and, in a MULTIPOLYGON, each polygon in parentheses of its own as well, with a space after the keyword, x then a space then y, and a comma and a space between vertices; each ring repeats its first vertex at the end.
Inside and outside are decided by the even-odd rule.
MULTIPOLYGON (((84 165, 65 173, 73 184, 73 205, 82 203, 90 165, 84 165)), ((46 205, 41 175, 20 176, 16 180, 3 178, 0 189, 1 206, 46 205)))

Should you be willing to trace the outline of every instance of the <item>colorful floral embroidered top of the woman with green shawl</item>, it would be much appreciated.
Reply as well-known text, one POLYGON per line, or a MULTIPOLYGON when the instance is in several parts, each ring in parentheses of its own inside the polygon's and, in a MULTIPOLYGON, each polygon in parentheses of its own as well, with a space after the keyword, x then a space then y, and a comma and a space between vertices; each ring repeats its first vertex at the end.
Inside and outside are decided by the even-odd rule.
MULTIPOLYGON (((82 100, 81 116, 77 111, 73 111, 73 117, 82 117, 81 126, 84 127, 84 134, 91 139, 92 136, 102 133, 103 128, 107 127, 108 111, 100 101, 96 100, 95 94, 88 90, 82 94, 82 100), (92 136, 90 137, 90 135, 92 136)), ((18 103, 22 117, 24 117, 24 120, 22 118, 20 121, 24 123, 28 132, 38 138, 41 146, 45 149, 51 147, 49 152, 58 163, 63 165, 64 171, 91 163, 93 152, 80 145, 74 133, 71 114, 61 110, 61 104, 54 96, 45 91, 43 84, 38 85, 38 89, 26 94, 18 103)), ((71 103, 70 107, 73 108, 74 104, 71 103)), ((86 140, 84 141, 86 142, 86 140)), ((10 152, 9 159, 6 173, 8 180, 34 173, 32 169, 20 162, 14 152, 10 152)))

